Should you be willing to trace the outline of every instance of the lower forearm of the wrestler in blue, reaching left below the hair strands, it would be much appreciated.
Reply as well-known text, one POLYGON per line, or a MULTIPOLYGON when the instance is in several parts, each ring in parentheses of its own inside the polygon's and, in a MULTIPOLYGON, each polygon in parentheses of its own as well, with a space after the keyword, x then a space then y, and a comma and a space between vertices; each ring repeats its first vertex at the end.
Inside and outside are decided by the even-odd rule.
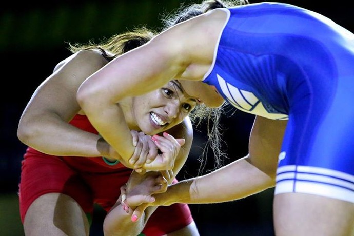
POLYGON ((270 176, 243 158, 217 171, 171 185, 162 194, 163 198, 157 198, 163 205, 220 203, 242 199, 273 186, 270 176))

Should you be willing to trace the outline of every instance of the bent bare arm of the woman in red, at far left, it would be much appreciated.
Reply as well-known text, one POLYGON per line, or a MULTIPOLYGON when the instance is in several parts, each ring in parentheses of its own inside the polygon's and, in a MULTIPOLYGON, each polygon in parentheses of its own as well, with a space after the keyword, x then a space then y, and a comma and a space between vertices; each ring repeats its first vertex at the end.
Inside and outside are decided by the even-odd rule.
POLYGON ((109 145, 97 142, 99 135, 69 124, 81 109, 76 102, 78 87, 105 64, 107 61, 95 51, 81 51, 59 63, 24 109, 17 129, 18 139, 51 155, 108 156, 109 145))

